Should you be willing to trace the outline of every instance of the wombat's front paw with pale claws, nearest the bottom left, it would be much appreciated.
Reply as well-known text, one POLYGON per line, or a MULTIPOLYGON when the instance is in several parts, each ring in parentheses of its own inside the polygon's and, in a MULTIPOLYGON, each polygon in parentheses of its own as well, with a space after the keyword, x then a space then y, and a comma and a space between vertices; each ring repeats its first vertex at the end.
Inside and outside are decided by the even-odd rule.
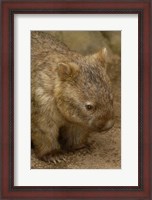
POLYGON ((48 162, 48 163, 54 163, 54 164, 57 164, 57 163, 60 163, 62 161, 66 161, 65 157, 63 155, 45 155, 43 156, 42 158, 45 162, 48 162))

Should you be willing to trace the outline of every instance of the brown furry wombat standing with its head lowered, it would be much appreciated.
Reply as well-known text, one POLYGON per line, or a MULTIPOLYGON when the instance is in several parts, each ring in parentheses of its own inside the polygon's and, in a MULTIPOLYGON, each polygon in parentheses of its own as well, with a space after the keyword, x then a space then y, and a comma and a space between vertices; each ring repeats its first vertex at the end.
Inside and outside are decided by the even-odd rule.
POLYGON ((31 36, 32 143, 40 159, 55 162, 114 124, 107 52, 82 56, 45 32, 31 36))

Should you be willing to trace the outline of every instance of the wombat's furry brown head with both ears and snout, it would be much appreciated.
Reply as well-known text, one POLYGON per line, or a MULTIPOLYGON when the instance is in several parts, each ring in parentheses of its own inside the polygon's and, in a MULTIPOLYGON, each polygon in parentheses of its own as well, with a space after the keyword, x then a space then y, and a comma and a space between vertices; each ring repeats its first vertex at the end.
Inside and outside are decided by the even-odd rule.
POLYGON ((76 62, 59 63, 55 98, 62 116, 95 131, 114 124, 113 95, 103 67, 106 50, 76 62))

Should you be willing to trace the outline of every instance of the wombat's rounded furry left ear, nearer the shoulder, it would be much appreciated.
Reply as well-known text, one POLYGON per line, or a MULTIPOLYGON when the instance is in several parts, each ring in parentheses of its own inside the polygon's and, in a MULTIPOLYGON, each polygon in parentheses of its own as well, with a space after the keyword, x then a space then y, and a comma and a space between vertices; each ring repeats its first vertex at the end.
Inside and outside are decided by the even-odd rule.
POLYGON ((79 72, 79 66, 75 63, 59 63, 58 75, 61 80, 72 79, 77 76, 79 72))

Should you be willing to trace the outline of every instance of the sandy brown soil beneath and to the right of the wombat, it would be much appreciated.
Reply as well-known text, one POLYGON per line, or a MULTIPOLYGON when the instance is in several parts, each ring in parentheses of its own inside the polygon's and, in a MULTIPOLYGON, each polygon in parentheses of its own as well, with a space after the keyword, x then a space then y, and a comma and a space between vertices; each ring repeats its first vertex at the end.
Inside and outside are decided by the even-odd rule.
MULTIPOLYGON (((104 35, 104 34, 103 34, 104 35)), ((102 133, 92 133, 89 137, 91 147, 89 151, 81 149, 64 153, 66 161, 60 163, 46 163, 36 158, 32 149, 32 169, 118 169, 121 168, 121 87, 120 87, 120 53, 112 50, 112 36, 104 35, 107 46, 111 49, 111 61, 108 73, 111 78, 114 93, 115 125, 112 129, 102 133), (112 41, 110 43, 110 40, 112 41)), ((117 46, 118 47, 118 46, 117 46)), ((77 50, 77 49, 76 49, 77 50)))

